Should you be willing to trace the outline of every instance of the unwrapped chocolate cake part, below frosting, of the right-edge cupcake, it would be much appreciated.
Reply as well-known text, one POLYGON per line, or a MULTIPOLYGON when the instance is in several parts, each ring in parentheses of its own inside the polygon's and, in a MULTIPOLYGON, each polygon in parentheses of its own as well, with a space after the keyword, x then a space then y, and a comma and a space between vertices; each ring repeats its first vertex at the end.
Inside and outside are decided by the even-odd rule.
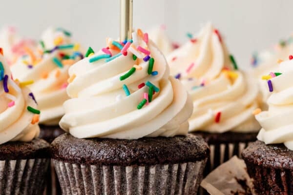
POLYGON ((283 144, 256 141, 242 156, 258 195, 293 194, 293 151, 283 144))

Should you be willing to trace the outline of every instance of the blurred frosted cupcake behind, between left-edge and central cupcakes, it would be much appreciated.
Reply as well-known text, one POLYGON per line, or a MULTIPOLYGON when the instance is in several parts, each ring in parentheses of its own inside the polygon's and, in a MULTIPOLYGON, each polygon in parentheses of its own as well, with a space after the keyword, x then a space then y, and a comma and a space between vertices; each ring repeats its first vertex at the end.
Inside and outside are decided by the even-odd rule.
MULTIPOLYGON (((50 27, 42 33, 40 45, 25 48, 25 53, 12 66, 14 78, 30 81, 28 86, 35 94, 40 115, 40 138, 51 143, 56 137, 65 133, 58 125, 64 115, 63 102, 69 97, 66 93, 68 69, 76 61, 83 59, 79 44, 71 41, 71 34, 62 28, 50 27)), ((52 168, 52 166, 50 166, 52 168)), ((56 180, 54 168, 49 170, 48 184, 56 180)), ((55 191, 55 184, 48 187, 47 194, 55 191)), ((57 186, 59 184, 57 183, 57 186)), ((53 195, 60 194, 53 192, 53 195)))

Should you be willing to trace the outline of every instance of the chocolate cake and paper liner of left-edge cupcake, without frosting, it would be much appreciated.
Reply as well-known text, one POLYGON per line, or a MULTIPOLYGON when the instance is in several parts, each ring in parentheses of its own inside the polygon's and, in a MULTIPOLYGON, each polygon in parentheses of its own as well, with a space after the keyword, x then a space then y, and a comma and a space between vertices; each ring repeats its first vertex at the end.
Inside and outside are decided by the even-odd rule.
POLYGON ((0 194, 41 195, 49 158, 49 144, 42 139, 1 144, 0 194))

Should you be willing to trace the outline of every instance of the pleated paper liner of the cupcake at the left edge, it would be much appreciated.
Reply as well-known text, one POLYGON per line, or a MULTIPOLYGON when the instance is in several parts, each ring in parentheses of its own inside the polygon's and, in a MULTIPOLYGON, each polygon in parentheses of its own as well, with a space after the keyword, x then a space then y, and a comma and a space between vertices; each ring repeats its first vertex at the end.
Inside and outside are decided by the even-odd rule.
POLYGON ((41 195, 49 159, 0 160, 0 195, 41 195))

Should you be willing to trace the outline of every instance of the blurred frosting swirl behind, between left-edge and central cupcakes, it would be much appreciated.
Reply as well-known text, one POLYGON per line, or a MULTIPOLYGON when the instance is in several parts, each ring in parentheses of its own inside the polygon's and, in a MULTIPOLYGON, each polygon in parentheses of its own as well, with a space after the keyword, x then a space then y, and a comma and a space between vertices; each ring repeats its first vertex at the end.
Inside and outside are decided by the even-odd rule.
POLYGON ((52 31, 52 28, 49 28, 44 33, 46 36, 42 37, 45 38, 43 39, 45 50, 53 49, 53 52, 40 54, 36 49, 35 57, 24 55, 11 68, 14 78, 20 81, 34 81, 28 87, 35 94, 41 110, 40 123, 46 125, 58 125, 64 115, 63 103, 69 98, 66 93, 67 79, 69 78, 68 69, 70 65, 81 59, 80 56, 73 55, 73 48, 54 49, 56 46, 72 45, 73 43, 69 42, 67 37, 63 35, 63 31, 56 30, 56 32, 54 31, 56 35, 61 36, 62 34, 66 39, 62 39, 63 41, 55 45, 56 36, 52 31), (60 54, 71 57, 63 60, 60 54), (54 62, 55 59, 58 59, 62 66, 58 66, 54 62))

